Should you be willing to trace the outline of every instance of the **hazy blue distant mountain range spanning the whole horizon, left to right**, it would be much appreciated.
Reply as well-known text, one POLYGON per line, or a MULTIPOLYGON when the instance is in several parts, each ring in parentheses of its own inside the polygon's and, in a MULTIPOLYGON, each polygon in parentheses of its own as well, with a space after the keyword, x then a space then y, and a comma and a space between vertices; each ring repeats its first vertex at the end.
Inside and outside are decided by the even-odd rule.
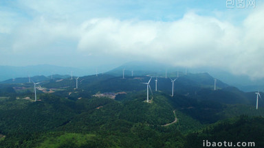
MULTIPOLYGON (((107 68, 104 68, 107 69, 107 68)), ((166 64, 160 64, 155 62, 128 62, 122 66, 108 71, 107 74, 114 76, 122 76, 122 71, 124 69, 124 75, 151 75, 153 77, 177 77, 177 75, 185 75, 185 73, 209 73, 212 77, 220 79, 222 82, 230 86, 235 86, 240 90, 250 92, 250 91, 264 91, 264 79, 250 79, 247 75, 233 75, 227 71, 222 71, 221 69, 212 69, 208 67, 200 68, 188 68, 180 66, 170 66, 166 64), (133 72, 132 72, 133 71, 133 72)), ((73 75, 84 76, 93 75, 96 73, 96 68, 91 69, 78 69, 67 66, 54 66, 54 65, 36 65, 36 66, 0 66, 0 81, 5 81, 10 79, 18 79, 19 77, 34 77, 36 75, 44 75, 46 77, 52 74, 58 75, 73 75)), ((102 71, 98 71, 102 73, 102 71)), ((21 78, 19 78, 21 79, 21 78)), ((28 79, 28 78, 27 78, 28 79)), ((6 81, 5 81, 6 82, 6 81)), ((24 82, 24 81, 23 81, 24 82)), ((3 83, 3 82, 2 82, 3 83)))

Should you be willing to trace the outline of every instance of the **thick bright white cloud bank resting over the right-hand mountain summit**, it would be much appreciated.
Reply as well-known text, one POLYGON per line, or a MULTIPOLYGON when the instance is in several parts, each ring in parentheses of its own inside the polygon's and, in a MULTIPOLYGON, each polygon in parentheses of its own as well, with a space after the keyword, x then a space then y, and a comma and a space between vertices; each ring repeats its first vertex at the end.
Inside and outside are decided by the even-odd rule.
POLYGON ((263 16, 253 12, 241 26, 195 13, 172 22, 96 18, 82 24, 78 49, 263 77, 263 16))

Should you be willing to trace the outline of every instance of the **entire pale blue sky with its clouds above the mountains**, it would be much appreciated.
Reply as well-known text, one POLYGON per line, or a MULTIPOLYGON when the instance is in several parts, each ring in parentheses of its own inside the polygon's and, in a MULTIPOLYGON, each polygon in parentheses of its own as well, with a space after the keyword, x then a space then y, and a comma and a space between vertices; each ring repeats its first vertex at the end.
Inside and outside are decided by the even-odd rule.
POLYGON ((1 0, 0 65, 148 60, 263 78, 264 3, 230 1, 1 0))

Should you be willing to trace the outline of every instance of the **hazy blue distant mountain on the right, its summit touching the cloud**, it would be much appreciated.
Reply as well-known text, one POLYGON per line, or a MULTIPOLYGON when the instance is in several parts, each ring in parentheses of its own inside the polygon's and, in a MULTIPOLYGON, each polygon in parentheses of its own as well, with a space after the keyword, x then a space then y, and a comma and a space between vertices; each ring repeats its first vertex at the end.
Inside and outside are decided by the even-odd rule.
POLYGON ((264 78, 252 79, 248 75, 234 75, 224 69, 217 69, 213 67, 182 67, 172 66, 170 64, 161 64, 157 62, 128 62, 122 66, 107 72, 110 75, 121 76, 122 70, 124 75, 152 75, 153 77, 165 77, 167 71, 167 77, 176 77, 177 72, 179 75, 187 73, 209 73, 212 77, 221 79, 222 82, 230 86, 235 86, 240 90, 251 92, 251 91, 264 91, 264 78), (173 75, 174 73, 174 75, 173 75))

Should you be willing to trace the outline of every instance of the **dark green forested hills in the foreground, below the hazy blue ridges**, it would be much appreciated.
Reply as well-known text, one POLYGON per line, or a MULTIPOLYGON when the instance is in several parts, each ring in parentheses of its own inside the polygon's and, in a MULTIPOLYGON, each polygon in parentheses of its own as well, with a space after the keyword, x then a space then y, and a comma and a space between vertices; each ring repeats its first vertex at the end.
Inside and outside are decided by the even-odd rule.
POLYGON ((220 79, 214 90, 214 77, 208 73, 177 77, 177 71, 170 71, 168 75, 177 78, 173 97, 170 78, 157 77, 155 91, 152 77, 146 103, 142 83, 155 73, 142 73, 148 76, 123 79, 101 73, 77 81, 63 75, 36 76, 43 78, 36 86, 36 102, 32 83, 21 79, 0 84, 0 147, 200 147, 202 138, 224 140, 234 132, 230 139, 235 141, 248 131, 239 137, 264 146, 259 134, 252 136, 263 130, 264 113, 261 99, 255 109, 253 92, 220 79))

